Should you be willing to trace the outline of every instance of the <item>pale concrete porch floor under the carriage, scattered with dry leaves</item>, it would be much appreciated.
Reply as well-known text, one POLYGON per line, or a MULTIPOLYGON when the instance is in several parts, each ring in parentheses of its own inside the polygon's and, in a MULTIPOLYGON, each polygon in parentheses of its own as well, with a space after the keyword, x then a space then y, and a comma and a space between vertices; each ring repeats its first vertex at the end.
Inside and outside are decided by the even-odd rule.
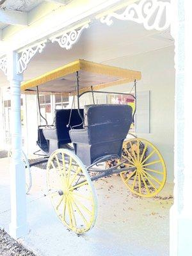
MULTIPOLYGON (((63 226, 46 193, 45 170, 31 168, 33 186, 28 200, 29 234, 20 243, 40 256, 168 256, 169 210, 173 193, 166 184, 162 198, 133 196, 118 176, 95 182, 99 212, 95 227, 77 236, 63 226)), ((0 159, 0 227, 10 223, 9 163, 0 159)))

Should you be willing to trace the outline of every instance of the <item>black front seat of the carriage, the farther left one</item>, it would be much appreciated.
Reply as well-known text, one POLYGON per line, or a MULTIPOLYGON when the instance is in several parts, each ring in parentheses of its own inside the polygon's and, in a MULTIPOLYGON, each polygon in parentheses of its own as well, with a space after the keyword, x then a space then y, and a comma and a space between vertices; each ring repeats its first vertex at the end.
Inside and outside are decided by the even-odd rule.
MULTIPOLYGON (((79 109, 83 116, 83 109, 79 109)), ((70 126, 67 127, 70 118, 70 109, 56 109, 55 121, 52 127, 45 127, 43 129, 44 137, 49 141, 49 154, 57 148, 63 148, 65 144, 71 143, 69 131, 70 127, 79 125, 76 129, 82 129, 83 124, 77 109, 72 109, 70 118, 70 126)))

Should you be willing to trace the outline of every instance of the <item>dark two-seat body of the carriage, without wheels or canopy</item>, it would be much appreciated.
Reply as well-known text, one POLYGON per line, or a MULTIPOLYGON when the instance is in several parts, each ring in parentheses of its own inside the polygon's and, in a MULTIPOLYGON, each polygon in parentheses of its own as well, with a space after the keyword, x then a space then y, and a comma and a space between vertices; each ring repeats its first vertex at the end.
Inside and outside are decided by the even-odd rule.
POLYGON ((78 109, 72 109, 71 114, 70 109, 56 110, 55 125, 40 127, 37 143, 44 153, 50 156, 54 150, 66 148, 72 142, 76 155, 86 166, 103 157, 120 157, 132 123, 131 106, 88 105, 79 111, 84 116, 84 128, 78 109))

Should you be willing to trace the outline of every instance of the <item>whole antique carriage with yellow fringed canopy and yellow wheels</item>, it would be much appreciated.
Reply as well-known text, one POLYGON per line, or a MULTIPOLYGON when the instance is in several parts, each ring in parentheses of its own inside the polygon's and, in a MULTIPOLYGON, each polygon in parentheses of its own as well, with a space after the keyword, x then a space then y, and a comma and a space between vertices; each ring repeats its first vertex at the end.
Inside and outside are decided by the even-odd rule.
MULTIPOLYGON (((134 94, 100 90, 130 82, 136 88, 140 79, 141 73, 134 70, 77 60, 21 86, 26 93, 37 93, 38 103, 39 93, 73 97, 71 109, 56 109, 54 124, 38 127, 38 154, 45 158, 35 164, 47 161, 54 210, 77 234, 90 230, 97 218, 94 180, 120 173, 132 193, 145 197, 156 195, 164 186, 166 167, 159 150, 147 140, 126 138, 135 122, 131 106, 95 104, 96 93, 129 95, 136 101, 136 90, 134 94), (79 99, 85 93, 92 95, 93 104, 81 109, 79 99)), ((40 116, 44 118, 41 112, 40 116)))

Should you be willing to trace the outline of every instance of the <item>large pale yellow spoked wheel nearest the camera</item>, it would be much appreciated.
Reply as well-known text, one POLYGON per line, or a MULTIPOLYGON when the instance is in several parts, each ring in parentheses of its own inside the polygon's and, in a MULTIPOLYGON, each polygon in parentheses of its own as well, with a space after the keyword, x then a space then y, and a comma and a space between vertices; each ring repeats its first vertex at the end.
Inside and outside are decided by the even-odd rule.
POLYGON ((56 214, 70 230, 83 234, 95 225, 95 189, 84 164, 70 150, 60 148, 49 157, 47 188, 56 214))

